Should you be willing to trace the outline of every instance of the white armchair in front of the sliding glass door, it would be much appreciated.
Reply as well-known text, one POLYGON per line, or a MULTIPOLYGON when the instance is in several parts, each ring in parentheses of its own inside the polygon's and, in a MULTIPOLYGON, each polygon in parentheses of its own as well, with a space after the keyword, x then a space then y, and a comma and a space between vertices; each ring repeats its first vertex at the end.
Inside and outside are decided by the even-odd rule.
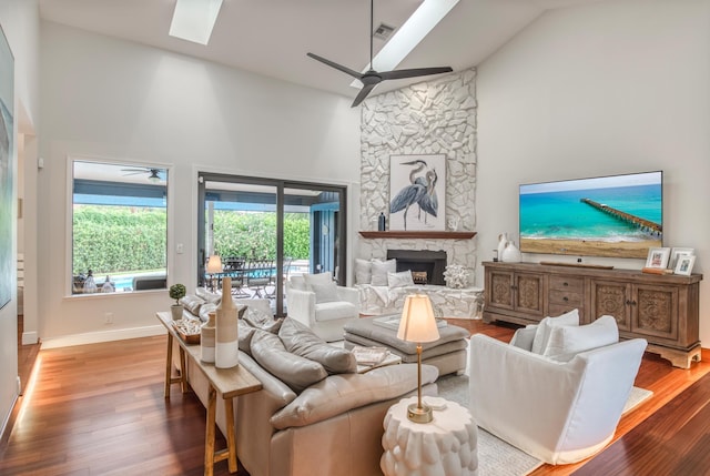
POLYGON ((359 294, 338 286, 329 273, 293 275, 286 281, 286 308, 322 340, 342 341, 343 326, 359 317, 359 294))

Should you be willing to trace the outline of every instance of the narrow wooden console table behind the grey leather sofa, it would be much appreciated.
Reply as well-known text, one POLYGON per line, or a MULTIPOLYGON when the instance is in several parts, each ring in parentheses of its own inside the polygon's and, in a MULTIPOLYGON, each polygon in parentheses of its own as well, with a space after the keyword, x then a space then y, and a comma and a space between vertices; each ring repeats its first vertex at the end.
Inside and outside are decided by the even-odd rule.
POLYGON ((230 473, 236 473, 236 434, 234 431, 234 397, 262 388, 246 368, 237 365, 233 368, 216 368, 214 364, 200 361, 200 345, 186 344, 172 325, 169 312, 156 313, 158 321, 168 330, 168 358, 165 361, 165 398, 170 398, 170 386, 180 384, 183 393, 187 391, 186 359, 190 358, 204 374, 210 385, 207 393, 207 422, 204 438, 204 474, 212 476, 214 464, 223 459, 229 463, 230 473), (172 376, 173 341, 180 345, 180 377, 172 376), (216 432, 216 393, 222 394, 224 402, 224 419, 226 422, 226 448, 214 449, 216 432))

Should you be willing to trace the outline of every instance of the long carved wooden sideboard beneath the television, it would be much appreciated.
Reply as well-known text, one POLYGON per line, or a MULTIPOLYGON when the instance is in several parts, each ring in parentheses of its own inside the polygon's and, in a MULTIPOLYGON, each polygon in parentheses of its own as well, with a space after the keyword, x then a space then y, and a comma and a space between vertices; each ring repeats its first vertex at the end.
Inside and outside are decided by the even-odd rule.
POLYGON ((579 310, 580 324, 611 315, 622 338, 677 367, 700 361, 699 283, 690 276, 537 263, 485 262, 484 321, 535 324, 579 310))

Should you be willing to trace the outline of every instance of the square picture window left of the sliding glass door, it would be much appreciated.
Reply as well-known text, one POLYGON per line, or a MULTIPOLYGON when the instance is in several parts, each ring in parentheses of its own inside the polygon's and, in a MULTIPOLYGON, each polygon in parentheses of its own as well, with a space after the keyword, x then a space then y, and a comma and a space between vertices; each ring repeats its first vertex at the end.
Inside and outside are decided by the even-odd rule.
POLYGON ((168 170, 72 162, 71 294, 166 287, 168 170))

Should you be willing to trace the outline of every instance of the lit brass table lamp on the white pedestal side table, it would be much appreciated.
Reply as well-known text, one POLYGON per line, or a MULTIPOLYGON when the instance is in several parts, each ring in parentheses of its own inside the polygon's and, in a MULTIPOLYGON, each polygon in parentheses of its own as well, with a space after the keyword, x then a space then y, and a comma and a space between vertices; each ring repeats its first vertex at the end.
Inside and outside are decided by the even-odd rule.
POLYGON ((407 418, 415 423, 429 423, 433 419, 432 408, 422 404, 422 343, 439 338, 429 296, 412 294, 406 297, 397 338, 417 343, 417 403, 407 408, 407 418))

